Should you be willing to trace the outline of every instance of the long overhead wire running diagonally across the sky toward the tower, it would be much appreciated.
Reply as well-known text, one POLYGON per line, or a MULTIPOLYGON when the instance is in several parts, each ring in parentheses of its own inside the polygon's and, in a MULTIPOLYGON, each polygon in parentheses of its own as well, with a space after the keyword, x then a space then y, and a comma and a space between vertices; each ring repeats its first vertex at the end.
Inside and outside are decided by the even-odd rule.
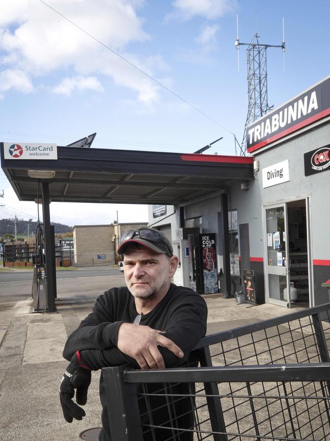
POLYGON ((202 110, 200 110, 198 107, 194 106, 193 104, 189 103, 189 101, 185 100, 184 98, 182 98, 180 95, 176 94, 175 92, 173 92, 171 89, 169 89, 169 87, 167 87, 166 85, 162 84, 160 81, 156 80, 154 77, 152 77, 151 75, 149 75, 147 72, 145 72, 144 70, 140 69, 138 66, 136 66, 134 63, 130 62, 129 60, 127 60, 127 58, 125 58, 124 56, 120 55, 120 53, 116 52, 114 49, 112 49, 111 47, 109 47, 108 45, 106 45, 105 43, 103 43, 101 40, 98 40, 96 37, 94 37, 92 34, 90 34, 89 32, 85 31, 81 26, 79 26, 77 23, 75 23, 74 21, 70 20, 70 18, 66 17, 65 15, 61 14, 59 11, 57 11, 55 8, 53 8, 52 6, 48 5, 46 2, 44 2, 44 0, 39 0, 41 3, 43 3, 45 6, 47 6, 49 9, 51 9, 52 11, 54 11, 56 14, 58 14, 60 17, 64 18, 64 20, 67 20, 69 23, 71 23, 73 26, 77 27, 81 32, 83 32, 84 34, 88 35, 90 38, 92 38, 93 40, 95 40, 97 43, 101 44, 102 46, 104 46, 106 49, 108 49, 110 52, 114 53, 115 55, 117 55, 119 58, 121 58, 121 60, 123 60, 124 62, 128 63, 130 66, 134 67, 135 69, 137 69, 139 72, 141 72, 143 75, 147 76, 149 79, 151 79, 152 81, 154 81, 156 84, 158 84, 159 86, 161 86, 164 90, 168 91, 169 93, 171 93, 172 95, 174 95, 175 97, 177 97, 179 100, 181 100, 182 102, 184 102, 185 104, 187 104, 188 106, 190 106, 191 108, 193 108, 194 110, 196 110, 197 112, 201 113, 202 115, 204 115, 205 117, 207 117, 210 121, 212 121, 213 123, 217 124, 219 127, 221 127, 222 129, 226 130, 228 133, 231 133, 232 135, 235 136, 235 133, 233 133, 231 130, 227 129, 225 126, 223 126, 222 124, 220 124, 219 122, 217 122, 216 120, 214 120, 211 116, 209 116, 208 114, 206 114, 205 112, 203 112, 202 110))

